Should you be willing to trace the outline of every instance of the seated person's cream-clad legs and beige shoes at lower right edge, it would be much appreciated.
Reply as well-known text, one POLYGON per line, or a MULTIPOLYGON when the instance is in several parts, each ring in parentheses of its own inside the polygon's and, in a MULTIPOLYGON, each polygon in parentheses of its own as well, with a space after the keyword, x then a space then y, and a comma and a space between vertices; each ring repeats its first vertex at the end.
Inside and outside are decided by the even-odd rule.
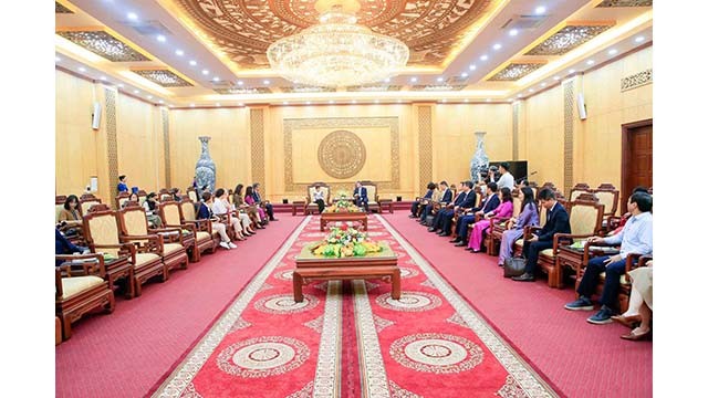
POLYGON ((620 337, 629 341, 645 339, 652 333, 650 321, 654 310, 654 268, 653 261, 647 261, 646 266, 639 266, 627 273, 632 280, 632 293, 629 294, 629 307, 622 315, 615 315, 612 321, 633 327, 632 332, 620 337), (638 326, 635 325, 639 323, 638 326))

